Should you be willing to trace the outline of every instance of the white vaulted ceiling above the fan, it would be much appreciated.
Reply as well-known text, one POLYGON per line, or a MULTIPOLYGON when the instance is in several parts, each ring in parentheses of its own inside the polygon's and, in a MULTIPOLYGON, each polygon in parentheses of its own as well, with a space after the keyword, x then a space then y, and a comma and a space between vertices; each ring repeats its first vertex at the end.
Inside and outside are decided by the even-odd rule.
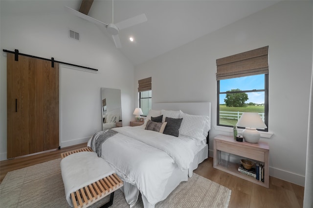
MULTIPOLYGON (((122 48, 117 50, 137 65, 278 1, 114 0, 114 22, 143 13, 148 19, 146 22, 120 30, 122 48), (130 37, 134 37, 133 42, 129 40, 130 37)), ((112 22, 112 0, 1 0, 1 13, 11 15, 66 13, 64 6, 81 11, 102 22, 112 22), (5 10, 2 10, 2 5, 5 5, 5 10)), ((104 32, 104 35, 112 39, 108 32, 104 32)))

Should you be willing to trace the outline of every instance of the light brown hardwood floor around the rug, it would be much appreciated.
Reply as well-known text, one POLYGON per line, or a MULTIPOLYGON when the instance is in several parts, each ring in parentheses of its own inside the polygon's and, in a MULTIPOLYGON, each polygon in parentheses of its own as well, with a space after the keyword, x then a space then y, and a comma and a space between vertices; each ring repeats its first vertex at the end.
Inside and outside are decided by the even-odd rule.
MULTIPOLYGON (((6 173, 61 158, 61 153, 86 147, 86 143, 61 150, 0 162, 0 182, 6 173)), ((231 189, 228 208, 302 208, 304 187, 269 177, 269 189, 213 168, 213 158, 203 161, 195 173, 231 189)))

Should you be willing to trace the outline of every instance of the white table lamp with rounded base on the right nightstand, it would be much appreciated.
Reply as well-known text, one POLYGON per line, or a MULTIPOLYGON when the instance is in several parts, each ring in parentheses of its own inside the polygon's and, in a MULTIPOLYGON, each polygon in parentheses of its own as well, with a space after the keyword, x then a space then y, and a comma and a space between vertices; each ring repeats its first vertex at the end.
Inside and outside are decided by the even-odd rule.
POLYGON ((243 113, 236 125, 246 127, 243 131, 243 136, 246 142, 250 143, 258 143, 260 140, 260 132, 256 129, 268 128, 259 113, 243 113))

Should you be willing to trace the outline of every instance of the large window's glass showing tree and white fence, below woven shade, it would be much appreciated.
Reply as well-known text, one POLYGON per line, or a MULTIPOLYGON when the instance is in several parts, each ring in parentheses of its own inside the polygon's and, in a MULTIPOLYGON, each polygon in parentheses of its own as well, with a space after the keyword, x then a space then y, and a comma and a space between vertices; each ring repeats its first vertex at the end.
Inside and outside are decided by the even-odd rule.
POLYGON ((217 125, 233 127, 242 113, 257 112, 268 126, 267 80, 268 74, 218 80, 217 125))

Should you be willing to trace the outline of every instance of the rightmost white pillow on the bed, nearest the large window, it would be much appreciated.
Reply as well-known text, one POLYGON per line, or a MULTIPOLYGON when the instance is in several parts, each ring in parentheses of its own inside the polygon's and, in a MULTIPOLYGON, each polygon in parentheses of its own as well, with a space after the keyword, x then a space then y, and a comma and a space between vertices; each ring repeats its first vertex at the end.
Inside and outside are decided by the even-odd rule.
POLYGON ((204 140, 204 125, 207 123, 202 115, 190 115, 179 111, 179 118, 183 118, 179 128, 179 134, 198 140, 204 140))

